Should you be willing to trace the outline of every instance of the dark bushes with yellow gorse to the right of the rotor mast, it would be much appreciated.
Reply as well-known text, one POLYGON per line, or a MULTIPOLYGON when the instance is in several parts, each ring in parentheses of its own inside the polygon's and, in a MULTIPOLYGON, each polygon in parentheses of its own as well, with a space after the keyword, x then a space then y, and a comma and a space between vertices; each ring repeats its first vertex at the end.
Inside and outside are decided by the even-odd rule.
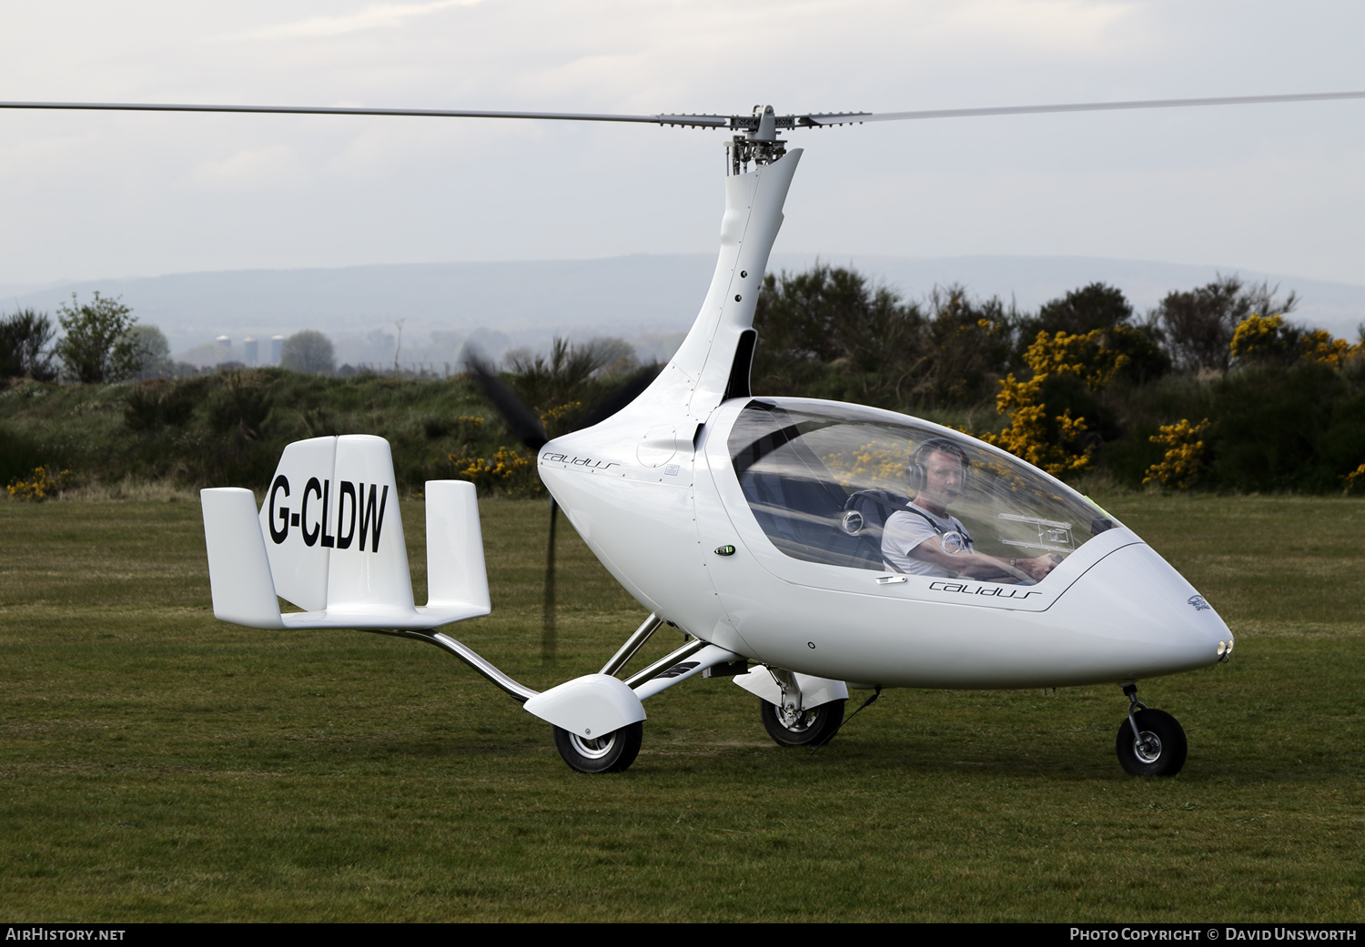
POLYGON ((1020 311, 816 265, 764 280, 753 390, 928 416, 1063 478, 1365 487, 1365 326, 1335 338, 1297 303, 1220 276, 1145 314, 1103 282, 1020 311))

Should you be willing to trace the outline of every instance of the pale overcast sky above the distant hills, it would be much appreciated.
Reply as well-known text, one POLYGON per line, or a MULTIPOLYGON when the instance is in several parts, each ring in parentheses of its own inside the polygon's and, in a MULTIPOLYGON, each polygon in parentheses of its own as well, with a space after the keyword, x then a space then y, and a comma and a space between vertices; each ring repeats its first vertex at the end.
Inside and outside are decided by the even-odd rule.
MULTIPOLYGON (((0 100, 904 111, 1365 89, 1365 4, 0 3, 0 100)), ((778 250, 1365 282, 1365 101, 796 131, 778 250)), ((723 132, 0 111, 0 282, 703 252, 723 132)))

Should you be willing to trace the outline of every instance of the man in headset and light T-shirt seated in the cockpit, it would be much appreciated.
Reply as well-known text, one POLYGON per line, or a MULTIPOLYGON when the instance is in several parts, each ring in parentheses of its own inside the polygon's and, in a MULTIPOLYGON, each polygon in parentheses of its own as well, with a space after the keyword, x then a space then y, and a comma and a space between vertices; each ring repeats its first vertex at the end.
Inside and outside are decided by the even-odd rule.
POLYGON ((887 568, 915 576, 1035 583, 1062 557, 998 558, 972 549, 961 520, 947 512, 962 493, 971 464, 966 452, 947 438, 932 438, 910 456, 906 468, 915 499, 891 513, 882 531, 882 558, 887 568))

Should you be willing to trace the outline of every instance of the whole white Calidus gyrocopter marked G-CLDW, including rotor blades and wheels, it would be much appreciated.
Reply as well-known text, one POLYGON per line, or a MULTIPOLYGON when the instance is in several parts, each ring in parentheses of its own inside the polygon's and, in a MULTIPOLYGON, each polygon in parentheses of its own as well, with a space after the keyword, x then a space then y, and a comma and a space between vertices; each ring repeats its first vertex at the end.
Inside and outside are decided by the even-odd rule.
MULTIPOLYGON (((1137 681, 1218 662, 1233 635, 1132 529, 991 445, 906 415, 749 390, 755 303, 800 161, 779 132, 864 121, 1365 98, 1365 93, 1091 102, 898 113, 571 115, 307 106, 0 102, 0 108, 283 112, 637 121, 730 130, 710 291, 647 385, 550 439, 476 360, 553 502, 650 615, 597 674, 535 692, 441 628, 489 614, 471 483, 426 484, 429 603, 416 606, 388 443, 289 445, 261 509, 202 493, 214 615, 251 628, 347 628, 435 644, 554 727, 564 760, 621 771, 643 701, 732 675, 767 733, 819 745, 849 689, 1118 684, 1115 748, 1134 775, 1174 775, 1186 740, 1137 681), (281 614, 276 596, 306 609, 281 614), (661 626, 682 647, 621 677, 661 626)), ((553 543, 551 506, 551 543, 553 543)), ((551 546, 553 550, 553 546, 551 546)))

